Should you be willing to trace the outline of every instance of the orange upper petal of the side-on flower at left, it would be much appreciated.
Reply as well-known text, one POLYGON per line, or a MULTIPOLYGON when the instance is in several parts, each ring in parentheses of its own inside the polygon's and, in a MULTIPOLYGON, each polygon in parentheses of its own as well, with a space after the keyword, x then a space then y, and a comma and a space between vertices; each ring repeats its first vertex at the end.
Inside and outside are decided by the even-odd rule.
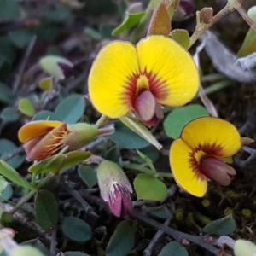
POLYGON ((18 132, 20 143, 26 143, 32 138, 43 136, 61 124, 62 122, 60 121, 38 120, 29 122, 23 125, 18 132))

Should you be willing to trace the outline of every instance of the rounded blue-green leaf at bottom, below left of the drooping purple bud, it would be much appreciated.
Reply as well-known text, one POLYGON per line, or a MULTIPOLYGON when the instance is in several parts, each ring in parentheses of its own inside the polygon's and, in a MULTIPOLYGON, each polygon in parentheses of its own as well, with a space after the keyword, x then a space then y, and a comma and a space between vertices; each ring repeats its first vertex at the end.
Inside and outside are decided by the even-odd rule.
POLYGON ((76 217, 65 217, 62 224, 62 231, 67 238, 73 241, 89 241, 92 236, 90 225, 76 217))

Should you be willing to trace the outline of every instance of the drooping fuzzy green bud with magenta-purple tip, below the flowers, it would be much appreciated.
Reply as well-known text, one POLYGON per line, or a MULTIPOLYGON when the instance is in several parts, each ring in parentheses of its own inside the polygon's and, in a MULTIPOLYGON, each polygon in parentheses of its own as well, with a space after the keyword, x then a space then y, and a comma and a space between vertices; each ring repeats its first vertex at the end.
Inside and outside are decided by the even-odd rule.
POLYGON ((121 217, 132 211, 132 188, 125 172, 115 163, 104 160, 97 169, 101 196, 113 215, 121 217))

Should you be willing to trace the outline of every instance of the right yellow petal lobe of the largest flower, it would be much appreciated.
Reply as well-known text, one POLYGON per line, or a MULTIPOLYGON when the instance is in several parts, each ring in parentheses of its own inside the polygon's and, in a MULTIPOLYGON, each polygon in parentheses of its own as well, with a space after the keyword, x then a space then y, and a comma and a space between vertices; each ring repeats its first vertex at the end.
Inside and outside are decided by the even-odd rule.
POLYGON ((141 72, 150 73, 150 90, 163 105, 189 102, 199 88, 199 75, 189 53, 171 38, 151 36, 137 44, 141 72))

